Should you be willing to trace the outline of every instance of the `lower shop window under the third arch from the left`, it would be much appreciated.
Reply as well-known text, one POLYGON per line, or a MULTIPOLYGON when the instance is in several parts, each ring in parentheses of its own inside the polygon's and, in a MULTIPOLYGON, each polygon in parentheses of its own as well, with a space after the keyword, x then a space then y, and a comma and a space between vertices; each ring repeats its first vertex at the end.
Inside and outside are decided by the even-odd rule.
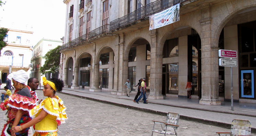
POLYGON ((109 69, 100 69, 99 75, 99 88, 109 88, 109 69))

